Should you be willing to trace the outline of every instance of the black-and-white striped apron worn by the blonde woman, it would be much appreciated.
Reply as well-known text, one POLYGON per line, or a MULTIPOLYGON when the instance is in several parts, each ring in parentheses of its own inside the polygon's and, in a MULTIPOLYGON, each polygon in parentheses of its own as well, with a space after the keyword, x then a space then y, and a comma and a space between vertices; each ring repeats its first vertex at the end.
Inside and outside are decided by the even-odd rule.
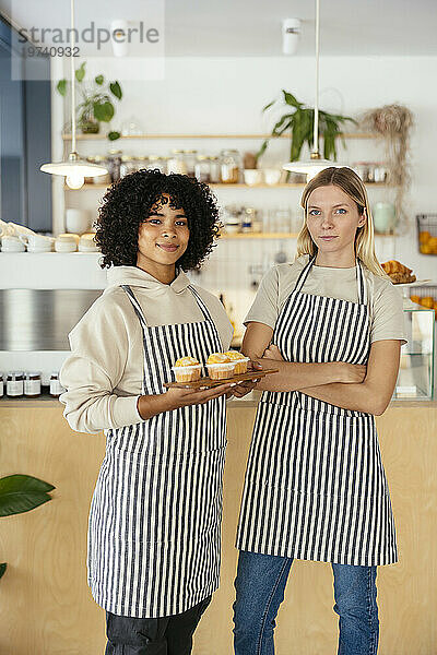
MULTIPOLYGON (((286 361, 368 359, 367 285, 358 302, 302 293, 312 258, 285 301, 272 343, 286 361)), ((237 548, 377 565, 398 560, 375 417, 305 393, 264 392, 246 471, 237 548)))

